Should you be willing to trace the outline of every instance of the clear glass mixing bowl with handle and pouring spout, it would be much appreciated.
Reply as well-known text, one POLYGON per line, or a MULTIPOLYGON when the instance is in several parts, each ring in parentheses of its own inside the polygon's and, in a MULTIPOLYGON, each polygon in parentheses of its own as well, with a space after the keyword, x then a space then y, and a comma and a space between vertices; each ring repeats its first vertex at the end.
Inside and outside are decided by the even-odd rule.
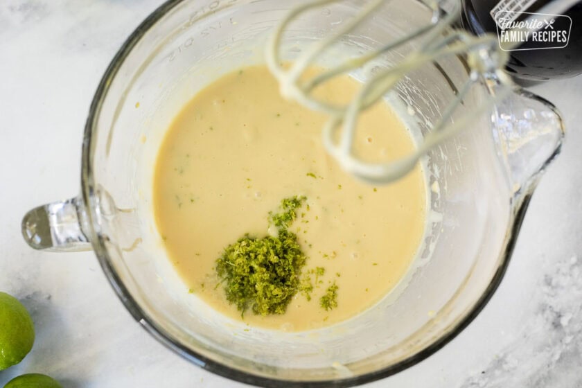
MULTIPOLYGON (((423 252, 407 282, 373 308, 298 333, 231 321, 188 294, 166 258, 152 215, 155 156, 170 121, 198 90, 222 73, 263 62, 267 35, 295 3, 172 0, 156 10, 96 91, 82 144, 81 194, 33 209, 22 227, 35 249, 94 249, 139 324, 200 367, 264 387, 347 387, 423 360, 482 310, 509 263, 538 177, 558 154, 563 123, 547 101, 515 89, 432 150, 424 161, 430 223, 423 252)), ((345 1, 304 15, 285 37, 290 55, 357 7, 345 1)), ((422 3, 394 0, 342 44, 365 52, 429 18, 422 3)), ((467 75, 464 58, 451 57, 403 81, 398 98, 414 113, 416 136, 430 132, 467 75)), ((495 88, 495 79, 482 80, 457 114, 495 88)))

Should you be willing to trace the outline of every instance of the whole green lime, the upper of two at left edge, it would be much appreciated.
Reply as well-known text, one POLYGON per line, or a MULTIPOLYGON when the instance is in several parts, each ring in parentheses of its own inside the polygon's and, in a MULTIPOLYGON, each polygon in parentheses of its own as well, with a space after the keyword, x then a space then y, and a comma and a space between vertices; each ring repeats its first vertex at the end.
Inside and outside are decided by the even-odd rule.
POLYGON ((21 362, 34 342, 35 326, 26 308, 0 292, 0 371, 21 362))

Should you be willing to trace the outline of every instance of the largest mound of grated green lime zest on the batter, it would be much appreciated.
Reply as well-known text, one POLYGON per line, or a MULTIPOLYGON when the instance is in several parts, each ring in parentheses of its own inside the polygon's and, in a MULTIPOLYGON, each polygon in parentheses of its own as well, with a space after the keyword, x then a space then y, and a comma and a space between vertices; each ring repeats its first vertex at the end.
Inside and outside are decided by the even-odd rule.
POLYGON ((297 235, 288 227, 297 218, 306 197, 281 201, 279 213, 269 213, 277 236, 256 238, 245 235, 224 249, 215 270, 224 282, 227 300, 244 315, 251 309, 256 315, 284 314, 292 297, 299 291, 301 268, 306 256, 297 235))

